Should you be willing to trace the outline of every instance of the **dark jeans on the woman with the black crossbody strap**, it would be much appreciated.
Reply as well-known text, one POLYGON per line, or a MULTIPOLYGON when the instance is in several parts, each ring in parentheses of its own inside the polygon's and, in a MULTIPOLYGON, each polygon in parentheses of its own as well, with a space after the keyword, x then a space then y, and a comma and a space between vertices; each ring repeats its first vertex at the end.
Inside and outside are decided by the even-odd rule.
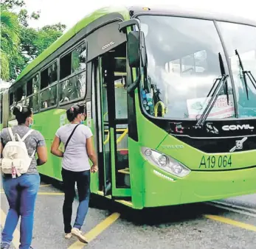
POLYGON ((90 170, 83 172, 73 172, 62 169, 63 189, 65 200, 63 203, 63 221, 64 231, 69 234, 72 229, 72 204, 75 199, 75 183, 77 183, 77 192, 79 197, 79 206, 77 208, 77 217, 75 219, 74 228, 81 229, 89 208, 90 198, 90 170))

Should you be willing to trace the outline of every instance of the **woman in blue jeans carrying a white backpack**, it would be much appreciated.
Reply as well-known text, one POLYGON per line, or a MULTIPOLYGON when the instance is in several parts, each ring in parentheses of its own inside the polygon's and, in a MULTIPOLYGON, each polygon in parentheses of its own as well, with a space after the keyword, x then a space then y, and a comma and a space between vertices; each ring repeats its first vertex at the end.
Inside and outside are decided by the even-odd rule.
POLYGON ((10 209, 1 234, 1 249, 10 248, 13 232, 21 216, 20 249, 31 248, 35 199, 40 186, 37 166, 47 161, 46 143, 33 123, 32 110, 17 105, 13 115, 18 125, 1 130, 1 174, 10 209), (35 159, 35 152, 38 159, 35 159))

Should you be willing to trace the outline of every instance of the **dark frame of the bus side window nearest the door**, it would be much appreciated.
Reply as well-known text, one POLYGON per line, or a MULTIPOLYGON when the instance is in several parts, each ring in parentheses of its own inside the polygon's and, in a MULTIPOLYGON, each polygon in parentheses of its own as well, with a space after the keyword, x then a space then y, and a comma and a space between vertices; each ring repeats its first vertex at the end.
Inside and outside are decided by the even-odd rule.
MULTIPOLYGON (((79 97, 79 98, 76 98, 76 99, 72 99, 72 100, 69 100, 69 101, 66 101, 66 102, 59 102, 60 101, 60 96, 59 96, 59 93, 60 91, 58 91, 58 105, 59 106, 63 106, 63 105, 67 105, 67 104, 70 104, 72 102, 77 102, 77 101, 81 101, 83 99, 86 99, 86 96, 87 96, 87 87, 88 87, 88 63, 89 63, 89 60, 88 60, 88 43, 87 43, 87 39, 86 38, 83 38, 81 41, 78 41, 74 46, 72 46, 71 48, 67 49, 66 52, 63 53, 63 55, 60 55, 59 57, 59 63, 60 63, 60 60, 62 57, 68 55, 70 52, 72 53, 73 51, 75 51, 75 49, 77 49, 77 47, 81 46, 83 43, 86 44, 86 69, 83 69, 81 71, 76 71, 72 74, 69 74, 69 76, 66 76, 64 77, 63 79, 59 80, 58 81, 58 90, 60 90, 60 84, 62 84, 65 80, 69 80, 70 78, 72 77, 75 77, 76 75, 78 74, 82 74, 83 72, 86 71, 86 91, 85 91, 85 94, 83 97, 79 97)), ((71 57, 72 59, 72 57, 71 57)), ((60 76, 60 67, 59 67, 59 76, 60 76)), ((71 60, 71 71, 72 71, 72 60, 71 60)))

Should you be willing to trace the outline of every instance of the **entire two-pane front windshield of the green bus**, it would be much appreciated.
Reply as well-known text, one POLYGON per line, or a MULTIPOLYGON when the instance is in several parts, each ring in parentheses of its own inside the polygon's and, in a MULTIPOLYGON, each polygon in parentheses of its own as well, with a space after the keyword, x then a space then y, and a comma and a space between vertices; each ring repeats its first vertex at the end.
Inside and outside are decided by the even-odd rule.
POLYGON ((235 55, 237 49, 244 71, 251 71, 256 76, 255 27, 218 22, 228 46, 232 76, 213 21, 162 15, 142 15, 139 19, 148 55, 140 95, 142 106, 149 115, 165 119, 199 119, 210 102, 213 85, 217 85, 215 83, 225 73, 228 80, 218 93, 207 119, 235 117, 235 99, 240 118, 256 117, 256 88, 247 74, 245 85, 235 55), (250 38, 242 39, 247 37, 244 33, 251 34, 250 38))

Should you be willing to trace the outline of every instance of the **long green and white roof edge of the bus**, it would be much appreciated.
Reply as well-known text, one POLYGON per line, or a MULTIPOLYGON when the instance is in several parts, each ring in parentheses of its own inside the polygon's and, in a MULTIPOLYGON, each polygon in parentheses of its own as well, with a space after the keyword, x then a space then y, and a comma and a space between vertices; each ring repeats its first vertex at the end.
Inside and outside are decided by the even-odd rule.
POLYGON ((93 13, 86 15, 82 20, 78 21, 74 27, 69 29, 66 33, 60 36, 57 41, 52 43, 41 55, 32 60, 32 62, 25 67, 21 74, 18 75, 15 83, 18 80, 21 80, 26 74, 30 72, 35 66, 38 66, 42 61, 44 61, 49 55, 52 55, 55 50, 57 50, 60 46, 64 43, 69 41, 74 35, 77 34, 81 29, 86 27, 91 22, 95 21, 97 18, 102 17, 103 15, 107 15, 108 13, 120 13, 125 20, 127 20, 130 15, 138 15, 138 14, 145 14, 145 15, 176 15, 176 16, 186 16, 191 18, 203 18, 203 19, 210 19, 216 21, 229 21, 234 23, 240 24, 249 24, 256 27, 256 22, 246 19, 237 17, 234 15, 226 15, 220 13, 210 13, 210 12, 201 12, 197 10, 186 10, 184 8, 177 8, 177 7, 162 7, 162 8, 151 8, 151 7, 103 7, 99 10, 95 10, 93 13))

